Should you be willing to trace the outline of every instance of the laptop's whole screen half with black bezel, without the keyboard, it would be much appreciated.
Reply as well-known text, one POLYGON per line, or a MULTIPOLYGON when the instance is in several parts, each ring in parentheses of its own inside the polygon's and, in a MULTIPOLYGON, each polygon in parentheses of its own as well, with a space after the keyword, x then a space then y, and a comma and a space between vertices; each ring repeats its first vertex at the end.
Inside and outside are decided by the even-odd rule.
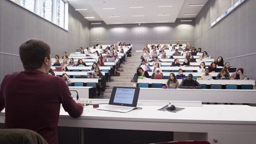
POLYGON ((109 104, 136 107, 138 97, 139 88, 114 87, 111 93, 109 104))

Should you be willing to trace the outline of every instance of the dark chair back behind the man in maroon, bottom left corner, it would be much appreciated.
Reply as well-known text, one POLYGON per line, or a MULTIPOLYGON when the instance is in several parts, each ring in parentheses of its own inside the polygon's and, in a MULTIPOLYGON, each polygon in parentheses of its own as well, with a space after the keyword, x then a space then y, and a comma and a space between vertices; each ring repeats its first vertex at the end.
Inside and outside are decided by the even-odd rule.
POLYGON ((0 129, 0 143, 47 144, 47 141, 33 130, 0 129))

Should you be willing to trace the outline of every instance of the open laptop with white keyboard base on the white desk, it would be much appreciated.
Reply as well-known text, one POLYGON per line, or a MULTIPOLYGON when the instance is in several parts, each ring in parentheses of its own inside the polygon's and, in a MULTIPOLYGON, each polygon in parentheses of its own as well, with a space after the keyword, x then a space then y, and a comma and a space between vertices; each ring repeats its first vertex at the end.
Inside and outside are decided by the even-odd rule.
POLYGON ((113 87, 109 103, 100 105, 97 110, 127 113, 136 108, 138 97, 139 88, 113 87))

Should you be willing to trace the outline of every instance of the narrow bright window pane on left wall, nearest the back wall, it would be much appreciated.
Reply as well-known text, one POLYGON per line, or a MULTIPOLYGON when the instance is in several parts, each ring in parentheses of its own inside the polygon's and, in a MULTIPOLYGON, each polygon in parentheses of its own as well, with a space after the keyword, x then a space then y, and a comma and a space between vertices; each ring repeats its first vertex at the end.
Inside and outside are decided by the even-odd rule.
POLYGON ((62 0, 57 0, 57 25, 64 27, 65 4, 62 0))

